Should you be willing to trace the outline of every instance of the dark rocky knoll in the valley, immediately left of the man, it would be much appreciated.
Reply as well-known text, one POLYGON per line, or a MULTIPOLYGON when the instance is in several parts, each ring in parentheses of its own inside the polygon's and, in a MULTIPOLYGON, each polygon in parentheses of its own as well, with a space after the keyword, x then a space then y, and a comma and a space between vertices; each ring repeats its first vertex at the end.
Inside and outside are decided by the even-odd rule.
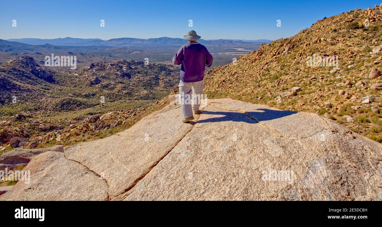
POLYGON ((104 96, 118 100, 155 99, 168 93, 178 81, 175 66, 148 64, 143 61, 119 60, 113 63, 99 62, 81 69, 76 76, 84 79, 92 90, 105 90, 104 96), (110 94, 110 95, 109 95, 110 94))

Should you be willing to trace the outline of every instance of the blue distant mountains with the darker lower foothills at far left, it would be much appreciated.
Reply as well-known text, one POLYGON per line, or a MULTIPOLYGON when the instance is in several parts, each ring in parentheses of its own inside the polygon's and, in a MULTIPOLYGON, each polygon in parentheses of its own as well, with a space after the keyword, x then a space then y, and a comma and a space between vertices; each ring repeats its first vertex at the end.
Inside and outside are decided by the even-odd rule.
MULTIPOLYGON (((198 42, 207 48, 242 48, 246 50, 257 50, 262 43, 269 43, 270 40, 255 42, 257 40, 229 40, 216 39, 198 42)), ((135 50, 152 50, 152 48, 163 49, 171 47, 174 50, 186 44, 187 40, 180 38, 160 37, 152 39, 137 38, 117 38, 109 40, 101 39, 79 39, 79 38, 58 38, 58 39, 0 39, 0 52, 88 52, 89 50, 105 50, 116 47, 133 47, 135 50)))

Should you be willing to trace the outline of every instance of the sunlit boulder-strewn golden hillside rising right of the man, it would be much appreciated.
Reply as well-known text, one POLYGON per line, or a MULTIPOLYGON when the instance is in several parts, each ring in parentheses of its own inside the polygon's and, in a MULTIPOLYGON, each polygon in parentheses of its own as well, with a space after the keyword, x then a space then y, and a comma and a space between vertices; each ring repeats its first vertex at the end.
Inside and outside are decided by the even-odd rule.
POLYGON ((209 98, 315 112, 382 142, 381 11, 382 4, 324 18, 211 69, 204 82, 209 98), (321 65, 309 62, 314 56, 321 65), (338 57, 338 67, 325 63, 329 56, 338 57))

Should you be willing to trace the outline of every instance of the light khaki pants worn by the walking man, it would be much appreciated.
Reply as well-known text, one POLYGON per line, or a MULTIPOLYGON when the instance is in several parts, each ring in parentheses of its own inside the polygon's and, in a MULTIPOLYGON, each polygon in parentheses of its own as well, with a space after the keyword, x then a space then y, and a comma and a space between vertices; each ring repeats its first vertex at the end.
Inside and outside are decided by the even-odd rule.
POLYGON ((183 82, 179 85, 179 101, 183 117, 190 118, 193 111, 199 110, 201 104, 201 95, 203 93, 203 80, 197 82, 183 82), (191 89, 192 89, 192 109, 191 109, 191 89))

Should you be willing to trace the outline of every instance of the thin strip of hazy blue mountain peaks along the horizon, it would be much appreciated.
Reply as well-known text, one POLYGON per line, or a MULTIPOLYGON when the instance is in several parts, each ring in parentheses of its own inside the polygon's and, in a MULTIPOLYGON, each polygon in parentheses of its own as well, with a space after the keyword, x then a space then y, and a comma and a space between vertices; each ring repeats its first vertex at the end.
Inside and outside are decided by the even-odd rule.
MULTIPOLYGON (((117 39, 79 39, 79 38, 58 38, 58 39, 8 39, 10 42, 20 42, 29 45, 72 45, 72 46, 132 46, 132 45, 183 45, 187 41, 180 38, 160 37, 152 39, 137 39, 137 38, 117 38, 117 39)), ((239 43, 270 43, 271 40, 233 40, 233 39, 217 39, 217 40, 203 40, 198 42, 207 45, 232 45, 239 43)))

